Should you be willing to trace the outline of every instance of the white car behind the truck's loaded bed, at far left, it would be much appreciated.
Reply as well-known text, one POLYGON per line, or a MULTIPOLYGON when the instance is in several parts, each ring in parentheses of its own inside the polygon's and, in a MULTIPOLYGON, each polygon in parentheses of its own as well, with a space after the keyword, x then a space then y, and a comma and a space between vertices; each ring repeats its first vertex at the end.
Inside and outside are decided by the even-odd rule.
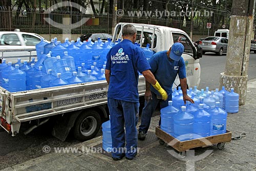
MULTIPOLYGON (((31 55, 36 55, 35 45, 43 38, 35 33, 19 32, 19 31, 0 31, 0 57, 6 58, 7 61, 16 61, 16 58, 29 60, 30 52, 2 52, 3 50, 24 50, 33 49, 31 55), (17 56, 17 57, 16 57, 17 56)), ((47 41, 47 40, 45 40, 47 41)), ((48 41, 47 41, 48 42, 48 41)))

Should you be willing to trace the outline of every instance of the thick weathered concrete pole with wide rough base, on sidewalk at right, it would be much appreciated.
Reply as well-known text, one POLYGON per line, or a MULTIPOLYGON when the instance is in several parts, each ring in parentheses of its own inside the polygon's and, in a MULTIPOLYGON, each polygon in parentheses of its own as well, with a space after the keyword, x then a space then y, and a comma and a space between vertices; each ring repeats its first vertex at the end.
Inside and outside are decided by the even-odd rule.
POLYGON ((232 1, 226 67, 220 76, 220 88, 234 88, 234 92, 239 94, 239 105, 246 101, 254 7, 255 0, 232 1))

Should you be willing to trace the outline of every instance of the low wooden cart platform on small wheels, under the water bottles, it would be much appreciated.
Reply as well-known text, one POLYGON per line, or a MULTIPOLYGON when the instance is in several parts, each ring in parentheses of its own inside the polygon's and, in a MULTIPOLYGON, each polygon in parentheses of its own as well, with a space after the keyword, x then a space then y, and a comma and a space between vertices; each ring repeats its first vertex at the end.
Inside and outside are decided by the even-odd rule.
POLYGON ((156 127, 156 136, 160 138, 160 144, 167 143, 168 145, 172 146, 178 152, 184 152, 191 148, 196 147, 205 147, 217 144, 219 149, 223 149, 226 142, 231 141, 231 132, 226 131, 225 134, 203 137, 198 139, 192 139, 187 141, 180 141, 173 136, 167 134, 166 132, 160 129, 160 126, 156 127))

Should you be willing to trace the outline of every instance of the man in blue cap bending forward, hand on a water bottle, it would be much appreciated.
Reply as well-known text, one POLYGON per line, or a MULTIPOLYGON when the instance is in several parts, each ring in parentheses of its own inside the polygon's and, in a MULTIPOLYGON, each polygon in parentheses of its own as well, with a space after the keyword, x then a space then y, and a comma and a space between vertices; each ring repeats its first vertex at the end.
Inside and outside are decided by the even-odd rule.
MULTIPOLYGON (((187 79, 184 59, 181 57, 184 52, 184 46, 180 42, 176 42, 168 51, 155 53, 150 59, 151 72, 159 81, 161 87, 168 94, 167 100, 159 98, 159 93, 146 81, 145 103, 141 115, 141 124, 139 126, 138 138, 145 139, 148 128, 150 127, 151 117, 160 102, 160 109, 168 105, 168 101, 172 100, 172 87, 177 74, 180 78, 181 89, 183 93, 184 103, 193 99, 187 95, 187 79)), ((159 125, 161 124, 161 119, 159 125)))

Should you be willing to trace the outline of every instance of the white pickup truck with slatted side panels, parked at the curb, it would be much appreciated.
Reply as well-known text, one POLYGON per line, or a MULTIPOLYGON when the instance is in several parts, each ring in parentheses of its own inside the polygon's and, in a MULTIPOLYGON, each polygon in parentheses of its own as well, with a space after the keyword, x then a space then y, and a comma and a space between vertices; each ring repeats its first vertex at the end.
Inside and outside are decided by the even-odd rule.
MULTIPOLYGON (((118 38, 118 32, 121 35, 123 25, 125 24, 117 24, 113 41, 118 38)), ((202 56, 202 52, 197 52, 193 41, 184 31, 163 26, 134 25, 138 35, 143 35, 140 38, 141 46, 147 41, 154 42, 152 49, 156 52, 168 50, 176 41, 181 42, 185 47, 183 58, 186 62, 188 86, 198 86, 198 58, 202 56)), ((138 90, 141 101, 144 101, 143 75, 139 76, 138 90)), ((108 84, 105 80, 13 93, 0 87, 0 125, 15 136, 23 122, 31 124, 31 128, 25 131, 28 134, 51 119, 55 123, 52 134, 56 138, 65 141, 73 128, 76 139, 88 140, 97 134, 102 120, 108 118, 107 94, 108 84)))

